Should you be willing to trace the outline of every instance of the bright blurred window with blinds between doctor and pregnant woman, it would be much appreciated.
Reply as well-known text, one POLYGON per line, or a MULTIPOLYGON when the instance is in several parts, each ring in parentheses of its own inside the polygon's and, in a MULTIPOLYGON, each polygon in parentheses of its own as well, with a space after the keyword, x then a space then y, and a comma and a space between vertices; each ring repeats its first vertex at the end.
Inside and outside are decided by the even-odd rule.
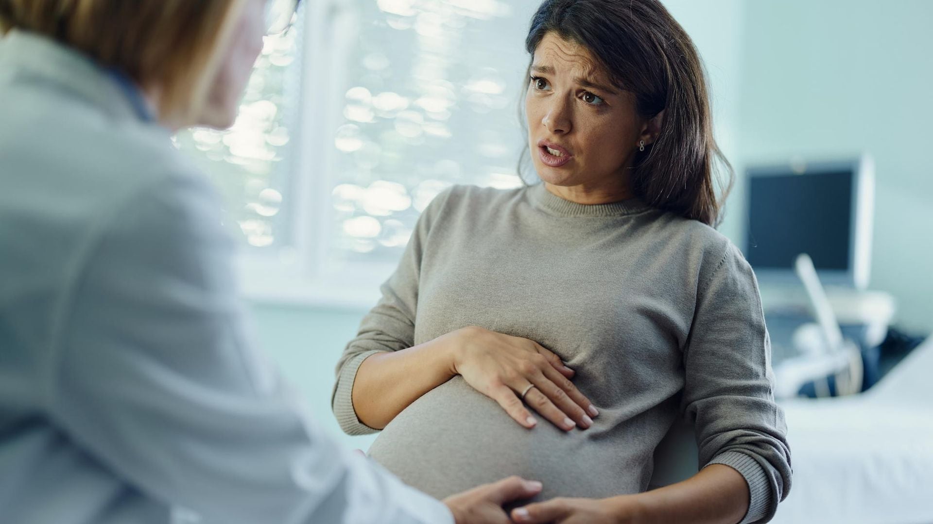
POLYGON ((244 239, 248 295, 369 307, 427 203, 514 187, 537 1, 311 0, 230 131, 177 139, 244 239))

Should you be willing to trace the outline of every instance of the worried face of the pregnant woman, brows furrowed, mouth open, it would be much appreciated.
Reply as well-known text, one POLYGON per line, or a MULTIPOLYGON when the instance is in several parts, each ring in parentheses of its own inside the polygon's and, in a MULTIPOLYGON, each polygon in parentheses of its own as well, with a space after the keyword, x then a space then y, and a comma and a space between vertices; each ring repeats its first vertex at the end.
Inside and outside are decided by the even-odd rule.
POLYGON ((580 203, 631 197, 627 168, 650 142, 634 96, 615 87, 592 54, 549 33, 535 49, 525 96, 528 144, 538 176, 580 203))

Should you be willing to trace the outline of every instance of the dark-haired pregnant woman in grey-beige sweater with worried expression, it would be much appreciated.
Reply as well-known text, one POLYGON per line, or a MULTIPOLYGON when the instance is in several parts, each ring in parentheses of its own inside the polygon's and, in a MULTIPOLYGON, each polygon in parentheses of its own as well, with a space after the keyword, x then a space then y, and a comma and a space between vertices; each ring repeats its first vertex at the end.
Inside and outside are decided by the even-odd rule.
POLYGON ((341 426, 439 498, 510 474, 562 497, 518 521, 770 519, 786 426, 755 276, 714 229, 731 168, 696 49, 655 0, 547 0, 526 48, 542 183, 431 203, 338 365, 341 426), (646 492, 682 414, 703 469, 646 492))

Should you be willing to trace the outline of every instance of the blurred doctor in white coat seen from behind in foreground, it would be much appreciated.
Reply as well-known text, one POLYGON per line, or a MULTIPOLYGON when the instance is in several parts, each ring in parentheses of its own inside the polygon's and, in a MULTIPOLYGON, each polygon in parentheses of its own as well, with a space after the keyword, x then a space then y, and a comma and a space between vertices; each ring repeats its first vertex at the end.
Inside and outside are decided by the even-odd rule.
POLYGON ((0 521, 502 524, 540 490, 412 490, 254 352, 215 191, 170 136, 230 126, 296 5, 0 0, 0 521))

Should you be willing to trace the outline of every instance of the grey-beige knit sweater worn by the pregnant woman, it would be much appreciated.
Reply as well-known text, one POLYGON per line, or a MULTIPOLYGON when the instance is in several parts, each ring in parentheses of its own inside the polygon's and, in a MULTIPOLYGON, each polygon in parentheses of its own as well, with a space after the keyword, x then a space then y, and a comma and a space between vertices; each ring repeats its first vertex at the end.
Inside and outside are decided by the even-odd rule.
POLYGON ((478 325, 531 338, 577 371, 599 408, 588 430, 527 430, 460 377, 400 413, 370 455, 436 497, 508 475, 539 498, 648 488, 675 417, 695 424, 700 467, 723 463, 751 490, 744 522, 773 517, 790 455, 772 394, 770 346, 745 258, 713 228, 638 200, 580 205, 543 186, 455 186, 434 200, 383 299, 338 365, 333 408, 350 434, 356 369, 478 325))

